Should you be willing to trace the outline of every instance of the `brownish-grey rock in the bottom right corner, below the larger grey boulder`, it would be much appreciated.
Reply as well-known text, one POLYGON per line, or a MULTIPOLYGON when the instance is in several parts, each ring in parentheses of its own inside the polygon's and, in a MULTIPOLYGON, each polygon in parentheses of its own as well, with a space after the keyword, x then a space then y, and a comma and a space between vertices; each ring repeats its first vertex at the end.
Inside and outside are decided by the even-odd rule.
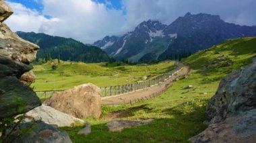
POLYGON ((236 117, 228 117, 224 122, 211 124, 206 130, 191 138, 191 142, 254 143, 256 140, 256 109, 246 111, 236 117))

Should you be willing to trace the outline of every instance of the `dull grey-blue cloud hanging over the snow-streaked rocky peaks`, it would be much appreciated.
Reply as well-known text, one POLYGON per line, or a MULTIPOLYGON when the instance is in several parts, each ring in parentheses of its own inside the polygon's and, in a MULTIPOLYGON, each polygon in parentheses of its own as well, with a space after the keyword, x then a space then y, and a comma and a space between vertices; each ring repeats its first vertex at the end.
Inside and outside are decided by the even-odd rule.
POLYGON ((240 25, 256 25, 255 0, 123 0, 127 24, 156 19, 170 24, 179 16, 191 13, 220 15, 224 21, 240 25))

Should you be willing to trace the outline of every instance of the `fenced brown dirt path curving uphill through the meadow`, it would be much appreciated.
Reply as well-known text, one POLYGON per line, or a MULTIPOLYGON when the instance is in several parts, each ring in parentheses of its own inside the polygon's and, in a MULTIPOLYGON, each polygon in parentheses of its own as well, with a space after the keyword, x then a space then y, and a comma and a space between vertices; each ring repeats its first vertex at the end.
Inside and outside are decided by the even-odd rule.
POLYGON ((155 85, 154 87, 149 87, 147 89, 141 89, 139 91, 134 91, 131 93, 125 93, 123 95, 115 95, 110 97, 102 97, 102 104, 104 105, 121 105, 121 104, 129 104, 135 103, 141 99, 150 99, 160 95, 163 93, 165 89, 171 85, 172 81, 175 81, 178 77, 187 75, 189 73, 189 67, 183 66, 181 70, 177 73, 169 77, 166 81, 160 83, 159 85, 155 85))

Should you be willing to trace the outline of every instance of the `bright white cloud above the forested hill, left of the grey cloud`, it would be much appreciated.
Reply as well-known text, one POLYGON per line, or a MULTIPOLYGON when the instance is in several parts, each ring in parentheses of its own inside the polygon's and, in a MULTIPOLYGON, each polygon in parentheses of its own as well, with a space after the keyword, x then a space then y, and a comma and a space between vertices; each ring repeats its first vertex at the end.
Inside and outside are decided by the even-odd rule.
POLYGON ((44 0, 42 13, 59 21, 46 21, 41 32, 75 38, 92 43, 106 35, 120 34, 125 17, 121 10, 109 9, 91 0, 44 0), (57 5, 57 6, 56 6, 57 5))

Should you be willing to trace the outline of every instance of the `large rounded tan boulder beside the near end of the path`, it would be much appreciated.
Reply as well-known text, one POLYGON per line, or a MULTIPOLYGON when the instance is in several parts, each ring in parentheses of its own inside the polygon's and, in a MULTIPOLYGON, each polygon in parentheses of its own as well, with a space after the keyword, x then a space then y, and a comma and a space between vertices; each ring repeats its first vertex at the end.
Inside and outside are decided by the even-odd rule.
POLYGON ((44 103, 74 117, 100 117, 100 88, 91 83, 79 85, 73 89, 55 93, 44 103))

